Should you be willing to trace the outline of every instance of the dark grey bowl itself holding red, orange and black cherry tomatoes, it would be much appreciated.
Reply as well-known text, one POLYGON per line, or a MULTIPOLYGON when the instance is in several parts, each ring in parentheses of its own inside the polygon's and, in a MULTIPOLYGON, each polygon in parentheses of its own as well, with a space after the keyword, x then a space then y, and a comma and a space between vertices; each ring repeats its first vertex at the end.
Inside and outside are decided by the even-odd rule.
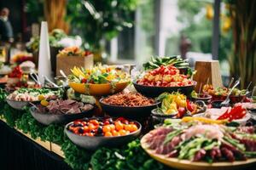
MULTIPOLYGON (((95 118, 94 118, 95 119, 95 118)), ((135 122, 135 121, 133 121, 135 122)), ((80 136, 78 134, 75 134, 73 132, 70 132, 67 127, 69 127, 73 122, 69 122, 64 132, 67 134, 67 137, 74 143, 79 145, 82 148, 85 148, 87 150, 96 150, 99 147, 102 146, 108 146, 108 147, 116 147, 118 145, 126 144, 130 142, 133 139, 136 139, 138 135, 141 133, 142 125, 139 122, 135 122, 137 124, 137 131, 133 133, 129 133, 125 136, 114 136, 114 137, 103 137, 103 136, 80 136)))

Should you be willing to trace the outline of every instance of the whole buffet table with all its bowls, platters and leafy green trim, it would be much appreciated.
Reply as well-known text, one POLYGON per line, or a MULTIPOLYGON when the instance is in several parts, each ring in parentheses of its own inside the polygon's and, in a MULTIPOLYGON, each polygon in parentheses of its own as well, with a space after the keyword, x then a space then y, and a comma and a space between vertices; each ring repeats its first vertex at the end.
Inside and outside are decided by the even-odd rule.
POLYGON ((197 94, 187 61, 152 62, 136 81, 119 67, 96 65, 74 67, 68 89, 0 88, 0 168, 252 169, 256 101, 236 88, 240 81, 231 89, 207 81, 197 94))

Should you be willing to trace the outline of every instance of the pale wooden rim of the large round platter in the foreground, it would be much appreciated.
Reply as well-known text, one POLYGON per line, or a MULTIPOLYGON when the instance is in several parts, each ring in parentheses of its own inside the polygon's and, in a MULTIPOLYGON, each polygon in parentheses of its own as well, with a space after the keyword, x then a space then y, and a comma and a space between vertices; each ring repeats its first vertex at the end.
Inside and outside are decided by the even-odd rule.
POLYGON ((256 163, 256 158, 248 159, 247 161, 221 161, 213 163, 170 158, 165 155, 155 154, 154 150, 148 150, 148 144, 146 143, 147 135, 148 134, 144 135, 143 139, 141 139, 143 150, 145 150, 148 155, 154 158, 156 161, 160 161, 168 167, 186 170, 233 170, 250 167, 253 163, 256 163))

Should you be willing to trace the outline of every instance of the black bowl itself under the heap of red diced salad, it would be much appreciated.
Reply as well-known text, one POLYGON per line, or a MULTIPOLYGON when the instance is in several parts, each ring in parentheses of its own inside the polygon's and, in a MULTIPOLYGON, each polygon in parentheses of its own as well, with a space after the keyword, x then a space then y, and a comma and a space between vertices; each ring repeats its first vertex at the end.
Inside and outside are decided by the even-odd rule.
POLYGON ((156 87, 156 86, 144 86, 137 84, 137 82, 133 82, 134 88, 136 88, 137 92, 147 96, 147 97, 157 97, 162 93, 168 92, 180 92, 185 95, 190 95, 191 92, 194 90, 196 82, 190 86, 183 86, 183 87, 156 87))

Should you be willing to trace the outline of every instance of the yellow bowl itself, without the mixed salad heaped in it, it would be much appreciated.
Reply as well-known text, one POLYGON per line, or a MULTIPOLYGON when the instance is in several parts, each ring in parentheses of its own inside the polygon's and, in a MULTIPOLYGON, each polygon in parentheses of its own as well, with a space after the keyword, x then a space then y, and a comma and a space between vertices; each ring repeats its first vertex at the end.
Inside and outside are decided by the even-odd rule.
POLYGON ((75 92, 79 94, 90 94, 96 96, 108 95, 108 94, 115 94, 119 93, 124 90, 129 82, 119 82, 113 88, 111 84, 85 84, 85 83, 78 83, 78 82, 69 82, 70 88, 73 88, 75 92))

